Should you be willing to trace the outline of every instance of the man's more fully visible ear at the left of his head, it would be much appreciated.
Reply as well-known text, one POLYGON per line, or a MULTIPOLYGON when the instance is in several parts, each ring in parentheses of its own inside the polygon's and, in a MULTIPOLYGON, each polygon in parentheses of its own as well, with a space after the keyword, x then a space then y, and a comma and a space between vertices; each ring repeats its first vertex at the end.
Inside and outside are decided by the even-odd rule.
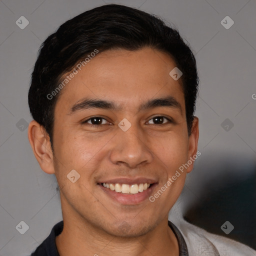
POLYGON ((35 120, 28 125, 28 140, 41 169, 46 173, 53 174, 55 171, 49 135, 44 127, 35 120))

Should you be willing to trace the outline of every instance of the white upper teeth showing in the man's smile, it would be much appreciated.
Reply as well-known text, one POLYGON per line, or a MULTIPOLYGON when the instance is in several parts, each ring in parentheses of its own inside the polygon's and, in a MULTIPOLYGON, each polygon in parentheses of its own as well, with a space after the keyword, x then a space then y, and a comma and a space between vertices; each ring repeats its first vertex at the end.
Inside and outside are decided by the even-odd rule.
POLYGON ((119 183, 102 183, 102 185, 106 188, 110 188, 111 190, 115 190, 115 192, 136 194, 138 192, 143 192, 144 190, 146 190, 150 184, 140 183, 128 185, 119 183))

